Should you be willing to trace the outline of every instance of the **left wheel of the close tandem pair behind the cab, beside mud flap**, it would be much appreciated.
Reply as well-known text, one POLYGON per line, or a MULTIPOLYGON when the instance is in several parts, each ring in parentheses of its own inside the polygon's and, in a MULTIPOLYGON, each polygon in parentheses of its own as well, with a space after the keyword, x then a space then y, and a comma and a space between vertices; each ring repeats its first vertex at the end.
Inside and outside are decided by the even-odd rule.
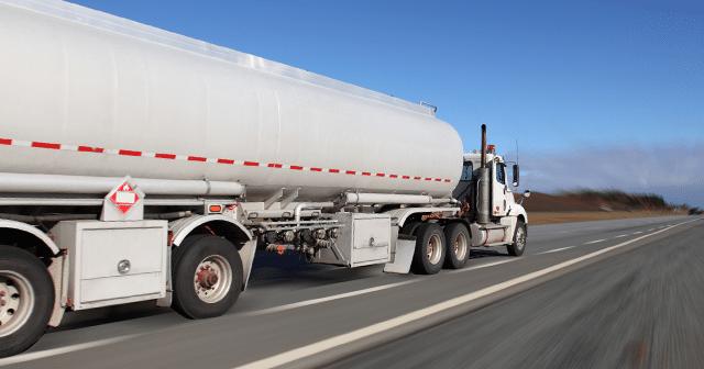
POLYGON ((435 275, 442 269, 446 242, 442 227, 435 223, 421 224, 416 230, 416 251, 411 269, 417 275, 435 275))

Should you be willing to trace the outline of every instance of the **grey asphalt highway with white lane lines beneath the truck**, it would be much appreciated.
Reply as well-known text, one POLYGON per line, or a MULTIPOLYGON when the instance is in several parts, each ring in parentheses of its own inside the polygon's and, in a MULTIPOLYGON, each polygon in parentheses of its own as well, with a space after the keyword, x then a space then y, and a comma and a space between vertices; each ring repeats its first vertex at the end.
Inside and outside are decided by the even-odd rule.
POLYGON ((224 316, 67 313, 7 368, 704 368, 704 217, 529 226, 522 257, 387 275, 257 254, 224 316))

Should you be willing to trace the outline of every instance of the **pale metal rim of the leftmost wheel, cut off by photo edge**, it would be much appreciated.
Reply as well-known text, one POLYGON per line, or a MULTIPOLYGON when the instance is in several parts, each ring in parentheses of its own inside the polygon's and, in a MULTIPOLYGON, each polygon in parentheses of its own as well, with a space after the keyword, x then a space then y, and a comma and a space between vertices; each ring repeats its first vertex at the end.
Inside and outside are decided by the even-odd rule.
POLYGON ((22 327, 34 311, 34 289, 22 275, 0 270, 0 337, 22 327))

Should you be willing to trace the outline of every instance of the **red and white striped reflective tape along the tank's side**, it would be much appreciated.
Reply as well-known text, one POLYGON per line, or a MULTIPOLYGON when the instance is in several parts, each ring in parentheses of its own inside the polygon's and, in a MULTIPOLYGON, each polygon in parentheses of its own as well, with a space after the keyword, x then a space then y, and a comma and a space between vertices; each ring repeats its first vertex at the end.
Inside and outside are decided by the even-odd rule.
POLYGON ((426 180, 426 181, 436 181, 436 182, 443 182, 443 181, 451 182, 451 180, 449 179, 441 179, 441 178, 411 177, 411 176, 399 176, 399 175, 388 175, 388 174, 375 174, 371 171, 360 171, 360 170, 302 167, 302 166, 296 166, 296 165, 275 164, 275 163, 215 159, 215 158, 206 158, 200 156, 186 156, 186 155, 174 155, 174 154, 135 152, 135 150, 116 149, 116 148, 50 144, 50 143, 42 143, 42 142, 30 142, 30 141, 9 139, 9 138, 0 138, 0 145, 37 147, 37 148, 58 149, 58 150, 66 150, 66 152, 152 157, 152 158, 168 159, 168 160, 202 161, 202 163, 237 165, 237 166, 244 166, 244 167, 262 167, 262 168, 280 168, 280 169, 302 170, 302 171, 319 171, 319 172, 343 174, 343 175, 363 176, 363 177, 381 177, 381 178, 398 178, 398 179, 409 179, 409 180, 426 180))

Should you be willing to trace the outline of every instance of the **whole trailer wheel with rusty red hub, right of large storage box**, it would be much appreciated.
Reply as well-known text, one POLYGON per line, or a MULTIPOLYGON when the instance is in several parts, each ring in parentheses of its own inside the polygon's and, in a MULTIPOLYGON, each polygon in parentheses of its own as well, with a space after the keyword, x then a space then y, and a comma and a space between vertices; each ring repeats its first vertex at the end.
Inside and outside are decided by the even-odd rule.
POLYGON ((242 259, 224 238, 188 236, 172 255, 172 280, 175 311, 188 318, 220 316, 242 292, 242 259))

